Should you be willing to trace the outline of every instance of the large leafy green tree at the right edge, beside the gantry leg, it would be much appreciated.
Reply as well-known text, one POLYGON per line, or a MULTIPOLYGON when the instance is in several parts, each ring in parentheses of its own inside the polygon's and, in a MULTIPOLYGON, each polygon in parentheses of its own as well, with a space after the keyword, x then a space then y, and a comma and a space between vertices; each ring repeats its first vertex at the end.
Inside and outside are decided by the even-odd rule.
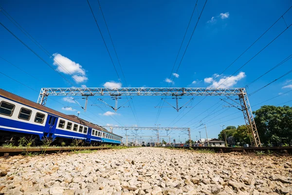
POLYGON ((253 113, 262 143, 292 143, 292 107, 265 105, 253 113))

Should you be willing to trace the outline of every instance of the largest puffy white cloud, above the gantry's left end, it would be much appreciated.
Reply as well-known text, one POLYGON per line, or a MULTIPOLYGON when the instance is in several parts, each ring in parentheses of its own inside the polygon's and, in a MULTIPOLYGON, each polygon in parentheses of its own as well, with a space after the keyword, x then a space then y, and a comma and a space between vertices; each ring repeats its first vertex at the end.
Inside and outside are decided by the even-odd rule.
POLYGON ((76 83, 88 80, 85 74, 85 69, 83 69, 80 64, 58 53, 53 54, 53 56, 54 56, 53 64, 57 66, 57 70, 59 72, 67 75, 73 75, 72 78, 76 81, 76 83))

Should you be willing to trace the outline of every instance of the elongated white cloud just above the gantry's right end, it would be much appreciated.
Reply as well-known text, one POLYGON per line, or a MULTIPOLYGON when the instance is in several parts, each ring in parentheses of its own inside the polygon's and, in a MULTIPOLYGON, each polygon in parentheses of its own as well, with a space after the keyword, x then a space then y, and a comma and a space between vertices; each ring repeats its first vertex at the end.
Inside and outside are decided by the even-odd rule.
MULTIPOLYGON (((214 76, 214 75, 213 75, 214 76)), ((238 75, 236 75, 236 76, 231 76, 230 78, 229 77, 227 77, 227 76, 224 76, 224 77, 221 77, 220 79, 219 79, 219 81, 216 81, 216 80, 213 80, 213 78, 212 78, 212 80, 213 80, 213 83, 212 83, 212 85, 210 86, 210 87, 221 87, 221 88, 226 88, 226 87, 232 87, 232 86, 234 86, 239 80, 241 80, 242 78, 245 78, 246 77, 246 75, 245 75, 245 73, 244 72, 240 72, 240 73, 238 73, 238 75), (226 80, 227 79, 227 80, 226 80)), ((205 79, 209 79, 209 80, 211 80, 210 78, 205 78, 205 79)), ((204 79, 204 81, 205 81, 205 79, 204 79)), ((208 80, 208 81, 209 81, 208 80)), ((206 81, 205 81, 206 82, 206 81)), ((207 82, 208 83, 208 82, 207 82)))

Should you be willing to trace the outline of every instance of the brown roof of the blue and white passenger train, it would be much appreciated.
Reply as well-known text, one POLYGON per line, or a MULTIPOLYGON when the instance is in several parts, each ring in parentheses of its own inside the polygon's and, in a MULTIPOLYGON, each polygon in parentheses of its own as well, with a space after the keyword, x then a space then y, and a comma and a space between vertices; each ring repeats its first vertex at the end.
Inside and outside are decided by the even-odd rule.
POLYGON ((38 104, 36 102, 33 102, 31 100, 28 100, 26 98, 22 98, 20 96, 17 96, 15 94, 12 94, 12 93, 10 93, 8 91, 5 91, 3 89, 0 89, 0 96, 5 97, 5 98, 9 98, 9 99, 11 99, 13 101, 17 101, 17 102, 19 102, 21 104, 30 106, 32 108, 35 108, 35 109, 38 109, 38 110, 41 110, 41 111, 44 111, 44 112, 47 112, 47 113, 50 113, 50 114, 53 114, 53 115, 56 115, 56 116, 65 118, 65 119, 68 119, 68 120, 72 120, 74 122, 77 122, 77 123, 80 123, 80 124, 83 124, 83 125, 86 125, 86 126, 89 126, 89 127, 93 128, 93 129, 97 129, 97 130, 100 130, 100 131, 103 131, 103 132, 107 132, 109 134, 112 134, 112 135, 121 137, 119 135, 110 133, 105 128, 103 128, 103 127, 101 127, 99 125, 93 124, 93 123, 88 122, 88 121, 86 121, 86 120, 84 120, 82 118, 76 117, 75 115, 65 115, 63 113, 60 113, 58 111, 55 111, 55 110, 53 110, 51 108, 48 108, 46 106, 40 105, 40 104, 38 104))

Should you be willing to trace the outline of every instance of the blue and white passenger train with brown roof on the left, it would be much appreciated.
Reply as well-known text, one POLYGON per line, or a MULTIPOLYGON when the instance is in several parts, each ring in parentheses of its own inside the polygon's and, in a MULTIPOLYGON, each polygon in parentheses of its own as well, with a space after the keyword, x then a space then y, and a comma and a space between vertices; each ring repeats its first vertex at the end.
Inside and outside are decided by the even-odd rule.
POLYGON ((74 115, 65 115, 0 89, 0 142, 33 136, 36 141, 52 137, 55 142, 121 144, 121 136, 74 115))

